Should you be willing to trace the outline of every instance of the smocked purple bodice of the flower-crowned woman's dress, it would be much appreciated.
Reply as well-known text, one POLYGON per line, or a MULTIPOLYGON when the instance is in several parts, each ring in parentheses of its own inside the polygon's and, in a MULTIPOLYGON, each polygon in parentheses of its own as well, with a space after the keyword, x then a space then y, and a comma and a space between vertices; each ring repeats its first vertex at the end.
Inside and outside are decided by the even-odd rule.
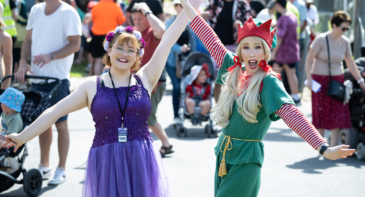
MULTIPOLYGON (((150 98, 141 79, 137 75, 134 78, 138 84, 129 88, 128 106, 124 115, 123 127, 128 129, 127 142, 143 139, 153 141, 147 125, 147 118, 151 113, 150 98)), ((113 88, 100 87, 100 76, 97 76, 96 85, 90 110, 96 130, 92 148, 118 142, 118 127, 122 127, 122 116, 113 88)), ((127 88, 116 88, 122 109, 126 102, 127 88)))

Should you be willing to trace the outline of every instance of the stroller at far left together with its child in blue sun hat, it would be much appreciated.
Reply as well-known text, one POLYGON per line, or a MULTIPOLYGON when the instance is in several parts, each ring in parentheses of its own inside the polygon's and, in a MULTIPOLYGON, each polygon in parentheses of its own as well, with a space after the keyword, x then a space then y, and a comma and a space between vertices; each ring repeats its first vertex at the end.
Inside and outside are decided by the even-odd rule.
MULTIPOLYGON (((0 84, 4 82, 7 78, 14 77, 14 75, 9 75, 4 77, 0 84)), ((49 94, 40 91, 24 91, 20 92, 15 88, 7 88, 3 94, 0 95, 1 108, 3 114, 1 114, 1 119, 3 122, 3 128, 7 131, 3 131, 5 134, 9 133, 19 133, 29 126, 38 116, 50 105, 48 100, 51 96, 57 94, 59 86, 61 86, 61 80, 57 78, 45 77, 45 76, 28 76, 26 78, 44 79, 45 82, 48 80, 56 80, 58 82, 57 86, 53 88, 49 94), (6 105, 6 107, 5 107, 6 105), (20 124, 13 124, 14 118, 9 122, 9 114, 12 113, 9 109, 14 110, 19 117, 20 124), (18 113, 20 112, 20 114, 18 113), (6 115, 5 115, 6 114, 6 115), (20 129, 19 129, 20 128, 20 129), (15 131, 14 131, 15 130, 15 131), (19 130, 19 131, 18 131, 19 130)), ((1 140, 2 137, 0 137, 1 140)), ((3 147, 3 146, 1 146, 3 147)), ((23 144, 14 152, 14 147, 10 147, 9 150, 0 149, 3 154, 0 155, 0 192, 8 190, 15 183, 23 184, 24 192, 27 196, 36 196, 42 189, 42 174, 38 169, 26 170, 23 167, 26 157, 28 156, 27 144, 23 144), (23 152, 23 154, 21 154, 23 152), (17 178, 23 175, 22 180, 17 180, 17 178)))

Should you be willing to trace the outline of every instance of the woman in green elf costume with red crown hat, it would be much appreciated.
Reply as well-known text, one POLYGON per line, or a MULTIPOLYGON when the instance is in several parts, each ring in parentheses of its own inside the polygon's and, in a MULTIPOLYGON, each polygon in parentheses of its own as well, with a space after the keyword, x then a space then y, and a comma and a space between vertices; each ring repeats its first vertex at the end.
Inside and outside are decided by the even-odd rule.
POLYGON ((214 119, 223 127, 215 147, 215 196, 257 196, 265 137, 272 121, 282 118, 301 138, 328 159, 346 158, 354 149, 348 145, 328 147, 315 127, 299 111, 284 89, 280 74, 266 64, 276 46, 276 29, 271 20, 248 19, 238 25, 237 50, 224 48, 214 31, 181 0, 192 23, 190 27, 203 41, 220 69, 216 83, 225 88, 215 107, 214 119))

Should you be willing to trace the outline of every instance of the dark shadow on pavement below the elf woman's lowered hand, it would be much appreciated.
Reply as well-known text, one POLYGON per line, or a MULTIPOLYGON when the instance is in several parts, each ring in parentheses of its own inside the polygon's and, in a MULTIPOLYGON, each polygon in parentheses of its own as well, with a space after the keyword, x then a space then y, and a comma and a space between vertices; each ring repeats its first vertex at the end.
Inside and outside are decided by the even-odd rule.
POLYGON ((321 174, 322 172, 320 172, 320 170, 337 166, 354 166, 355 168, 361 168, 361 166, 365 166, 365 162, 358 160, 355 156, 337 160, 330 160, 325 157, 314 157, 295 162, 292 165, 287 165, 288 168, 303 169, 304 173, 311 174, 321 174))

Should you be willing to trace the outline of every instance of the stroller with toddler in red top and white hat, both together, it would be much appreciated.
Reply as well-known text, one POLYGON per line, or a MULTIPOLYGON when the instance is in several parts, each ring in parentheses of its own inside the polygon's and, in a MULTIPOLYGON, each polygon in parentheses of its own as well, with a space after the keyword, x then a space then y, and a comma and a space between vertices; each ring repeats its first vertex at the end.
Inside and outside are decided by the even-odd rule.
POLYGON ((201 125, 202 121, 206 121, 205 133, 208 137, 216 137, 217 131, 213 128, 213 118, 209 113, 213 83, 214 67, 211 57, 198 51, 190 53, 181 67, 180 121, 176 126, 177 136, 187 136, 184 120, 190 119, 193 125, 201 125))

